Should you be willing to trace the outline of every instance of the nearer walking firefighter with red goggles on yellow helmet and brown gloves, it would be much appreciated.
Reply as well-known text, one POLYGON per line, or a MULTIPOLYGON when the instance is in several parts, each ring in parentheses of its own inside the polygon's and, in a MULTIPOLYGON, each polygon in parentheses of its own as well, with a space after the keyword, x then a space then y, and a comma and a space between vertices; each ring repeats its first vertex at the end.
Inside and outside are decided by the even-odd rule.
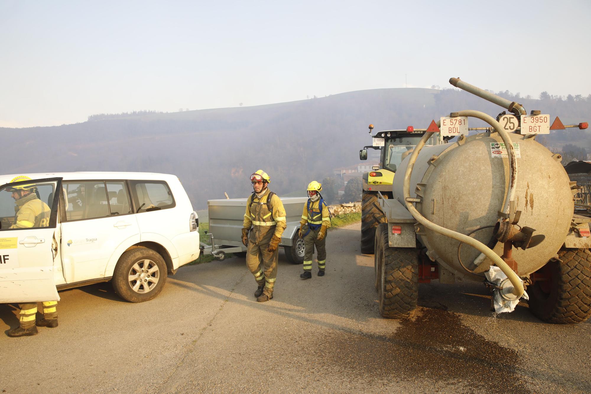
POLYGON ((267 187, 271 178, 263 170, 251 175, 254 192, 246 199, 242 243, 246 249, 246 266, 255 276, 256 301, 273 298, 277 278, 278 246, 287 227, 281 199, 267 187))

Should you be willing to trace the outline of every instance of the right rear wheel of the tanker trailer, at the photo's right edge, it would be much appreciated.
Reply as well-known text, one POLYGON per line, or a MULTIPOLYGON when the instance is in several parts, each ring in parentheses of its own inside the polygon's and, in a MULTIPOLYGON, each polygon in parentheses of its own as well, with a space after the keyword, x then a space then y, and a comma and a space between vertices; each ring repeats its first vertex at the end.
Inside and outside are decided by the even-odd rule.
POLYGON ((530 311, 545 322, 570 324, 591 316, 591 252, 562 248, 560 261, 548 261, 538 270, 546 280, 528 289, 530 311))

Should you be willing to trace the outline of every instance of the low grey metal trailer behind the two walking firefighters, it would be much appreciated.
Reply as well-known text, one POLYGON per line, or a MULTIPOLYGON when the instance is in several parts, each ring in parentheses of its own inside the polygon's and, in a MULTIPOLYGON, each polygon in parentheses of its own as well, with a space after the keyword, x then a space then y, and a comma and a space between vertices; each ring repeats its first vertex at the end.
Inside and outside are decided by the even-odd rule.
MULTIPOLYGON (((281 236, 280 247, 285 250, 285 257, 290 263, 304 262, 304 240, 298 236, 301 212, 306 204, 306 197, 285 197, 281 202, 285 207, 287 228, 281 236)), ((203 254, 213 254, 223 260, 226 253, 246 257, 246 247, 242 244, 242 222, 246 211, 246 198, 208 200, 209 237, 211 245, 201 243, 203 254)))

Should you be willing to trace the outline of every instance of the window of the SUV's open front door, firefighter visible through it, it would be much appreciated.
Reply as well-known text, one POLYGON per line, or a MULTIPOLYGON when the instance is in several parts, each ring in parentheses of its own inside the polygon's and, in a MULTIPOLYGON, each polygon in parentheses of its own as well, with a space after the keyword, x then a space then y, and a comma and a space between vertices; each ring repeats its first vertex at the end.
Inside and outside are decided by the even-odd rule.
POLYGON ((49 227, 56 185, 31 180, 0 189, 0 230, 49 227))

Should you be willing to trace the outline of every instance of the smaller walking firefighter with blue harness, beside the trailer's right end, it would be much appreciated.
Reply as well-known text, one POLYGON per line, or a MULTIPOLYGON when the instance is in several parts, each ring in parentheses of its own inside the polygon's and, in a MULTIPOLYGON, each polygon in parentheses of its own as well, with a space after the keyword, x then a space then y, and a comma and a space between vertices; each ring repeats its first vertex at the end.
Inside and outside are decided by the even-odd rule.
POLYGON ((318 252, 318 276, 324 276, 326 270, 326 230, 330 227, 330 212, 320 195, 322 184, 313 180, 308 185, 308 201, 301 214, 300 232, 304 238, 304 273, 303 279, 312 277, 312 256, 314 246, 318 252))

